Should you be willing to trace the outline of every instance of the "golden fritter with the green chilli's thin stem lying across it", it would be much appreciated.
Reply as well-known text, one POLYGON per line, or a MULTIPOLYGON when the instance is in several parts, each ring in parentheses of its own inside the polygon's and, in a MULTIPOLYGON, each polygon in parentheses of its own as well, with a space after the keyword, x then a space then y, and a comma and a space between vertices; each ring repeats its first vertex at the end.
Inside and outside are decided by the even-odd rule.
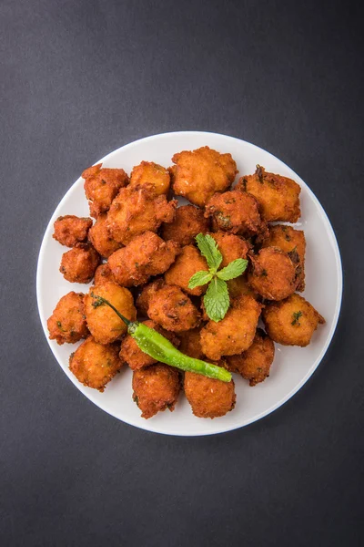
POLYGON ((114 283, 95 285, 85 296, 86 322, 99 344, 110 344, 126 334, 125 323, 106 304, 99 304, 96 296, 103 296, 129 321, 136 320, 133 296, 125 287, 114 283))

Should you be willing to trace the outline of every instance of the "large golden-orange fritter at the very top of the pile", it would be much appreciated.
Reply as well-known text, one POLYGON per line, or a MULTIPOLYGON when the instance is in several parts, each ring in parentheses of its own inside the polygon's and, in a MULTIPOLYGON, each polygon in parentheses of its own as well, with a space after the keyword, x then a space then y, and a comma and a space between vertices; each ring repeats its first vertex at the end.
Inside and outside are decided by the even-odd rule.
POLYGON ((173 190, 199 207, 216 191, 226 191, 238 173, 231 154, 220 154, 208 146, 175 154, 170 168, 173 190))

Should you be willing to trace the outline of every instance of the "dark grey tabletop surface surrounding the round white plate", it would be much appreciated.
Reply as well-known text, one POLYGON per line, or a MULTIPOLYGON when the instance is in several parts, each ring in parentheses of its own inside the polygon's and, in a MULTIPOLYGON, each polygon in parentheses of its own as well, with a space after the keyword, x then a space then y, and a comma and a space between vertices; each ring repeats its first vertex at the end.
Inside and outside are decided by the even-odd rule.
POLYGON ((359 2, 5 0, 0 13, 2 545, 359 545, 359 2), (345 275, 308 384, 268 418, 200 439, 96 408, 56 364, 35 303, 45 226, 81 170, 179 129, 286 161, 328 212, 345 275))

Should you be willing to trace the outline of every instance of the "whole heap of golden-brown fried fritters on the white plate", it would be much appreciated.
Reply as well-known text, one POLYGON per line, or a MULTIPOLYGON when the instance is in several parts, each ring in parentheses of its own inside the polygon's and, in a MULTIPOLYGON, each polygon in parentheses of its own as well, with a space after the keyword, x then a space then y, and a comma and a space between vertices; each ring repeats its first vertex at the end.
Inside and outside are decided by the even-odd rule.
POLYGON ((85 339, 69 368, 85 386, 104 391, 126 364, 133 370, 133 399, 143 418, 173 410, 185 391, 195 416, 217 418, 235 406, 234 381, 225 383, 157 363, 126 333, 104 296, 129 320, 143 321, 187 356, 224 366, 256 386, 269 376, 274 342, 307 346, 324 319, 305 298, 305 235, 288 224, 300 216, 295 181, 266 172, 240 178, 230 154, 203 147, 182 151, 165 169, 142 161, 130 178, 101 164, 82 173, 91 218, 55 222, 54 238, 70 247, 60 272, 87 294, 63 296, 48 319, 57 344, 85 339), (192 204, 177 208, 171 193, 192 204), (275 222, 270 224, 269 222, 275 222), (207 262, 197 233, 210 233, 221 267, 248 258, 248 270, 228 284, 230 307, 218 323, 204 310, 207 286, 188 288, 207 262), (266 331, 258 328, 259 318, 266 331))

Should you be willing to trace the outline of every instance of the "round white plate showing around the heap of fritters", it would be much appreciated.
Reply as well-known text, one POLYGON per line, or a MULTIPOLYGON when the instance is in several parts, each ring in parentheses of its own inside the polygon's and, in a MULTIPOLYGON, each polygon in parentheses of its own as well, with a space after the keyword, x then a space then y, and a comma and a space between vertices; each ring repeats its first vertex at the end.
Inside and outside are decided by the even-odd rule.
MULTIPOLYGON (((257 163, 268 171, 294 179, 301 186, 302 217, 298 226, 307 240, 306 291, 308 302, 326 318, 319 325, 308 347, 276 345, 276 356, 270 376, 262 384, 249 387, 248 382, 234 375, 237 391, 236 408, 223 418, 202 419, 193 416, 187 399, 181 395, 174 412, 160 412, 148 420, 140 418, 140 411, 132 401, 131 370, 126 366, 106 387, 104 393, 84 387, 68 369, 68 357, 76 345, 58 346, 48 339, 46 320, 59 298, 71 290, 86 292, 85 284, 69 284, 59 273, 59 263, 66 248, 52 238, 53 223, 66 214, 88 216, 84 181, 80 178, 67 191, 54 212, 39 253, 36 292, 39 314, 48 344, 66 375, 86 397, 118 419, 137 428, 168 435, 211 435, 247 426, 267 416, 292 397, 314 372, 329 347, 339 318, 342 294, 342 270, 339 247, 329 219, 318 199, 298 175, 266 150, 244 140, 226 135, 199 131, 165 133, 140 139, 111 152, 102 161, 104 167, 122 167, 130 172, 141 160, 156 161, 168 167, 174 153, 209 146, 219 152, 230 152, 237 161, 239 176, 252 173, 257 163)), ((85 160, 85 168, 91 161, 85 160)))

